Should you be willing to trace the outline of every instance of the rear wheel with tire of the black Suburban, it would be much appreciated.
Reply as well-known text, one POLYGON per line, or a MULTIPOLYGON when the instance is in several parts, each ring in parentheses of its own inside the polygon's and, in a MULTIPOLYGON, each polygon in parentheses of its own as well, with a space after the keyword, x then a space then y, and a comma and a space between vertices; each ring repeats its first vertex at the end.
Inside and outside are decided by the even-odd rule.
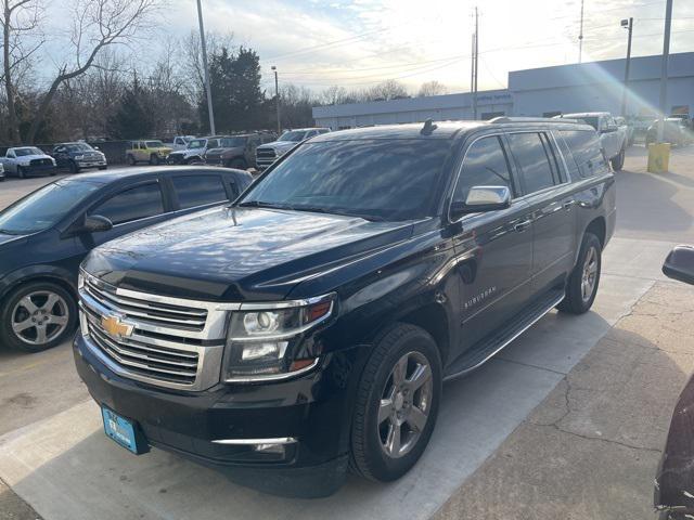
MULTIPOLYGON (((578 261, 571 271, 571 274, 566 282, 566 292, 562 302, 556 308, 562 312, 570 314, 583 314, 593 304, 595 295, 597 294, 597 286, 600 285, 600 271, 602 268, 602 245, 600 239, 590 232, 583 235, 581 243, 581 249, 578 253, 578 261), (591 252, 592 251, 592 252, 591 252), (593 255, 589 261, 589 255, 593 255), (594 268, 588 265, 594 261, 594 268), (592 273, 592 280, 590 286, 587 286, 587 291, 583 291, 584 283, 584 270, 589 270, 592 273)), ((588 276, 588 275, 587 275, 588 276)))

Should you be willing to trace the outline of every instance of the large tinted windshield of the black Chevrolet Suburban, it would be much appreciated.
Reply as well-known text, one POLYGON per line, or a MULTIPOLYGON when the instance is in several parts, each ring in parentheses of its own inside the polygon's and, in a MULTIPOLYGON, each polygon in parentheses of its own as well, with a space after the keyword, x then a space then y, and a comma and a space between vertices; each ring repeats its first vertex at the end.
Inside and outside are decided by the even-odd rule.
POLYGON ((296 150, 241 206, 410 220, 432 214, 444 140, 326 141, 296 150))

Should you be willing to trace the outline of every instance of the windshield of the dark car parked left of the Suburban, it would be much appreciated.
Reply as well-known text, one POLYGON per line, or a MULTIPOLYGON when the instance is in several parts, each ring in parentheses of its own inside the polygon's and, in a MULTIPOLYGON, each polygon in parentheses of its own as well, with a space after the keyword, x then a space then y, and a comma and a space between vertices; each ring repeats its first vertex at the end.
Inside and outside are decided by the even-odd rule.
POLYGON ((75 180, 48 184, 0 211, 0 233, 25 235, 47 230, 101 185, 75 180))

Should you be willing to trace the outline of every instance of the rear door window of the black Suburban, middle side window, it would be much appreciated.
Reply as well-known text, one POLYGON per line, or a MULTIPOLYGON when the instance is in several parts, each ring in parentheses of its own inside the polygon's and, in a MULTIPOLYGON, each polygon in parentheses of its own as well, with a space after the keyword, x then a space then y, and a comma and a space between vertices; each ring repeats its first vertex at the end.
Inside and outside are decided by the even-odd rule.
POLYGON ((511 153, 520 165, 526 194, 554 185, 550 160, 539 133, 512 133, 509 143, 511 153))

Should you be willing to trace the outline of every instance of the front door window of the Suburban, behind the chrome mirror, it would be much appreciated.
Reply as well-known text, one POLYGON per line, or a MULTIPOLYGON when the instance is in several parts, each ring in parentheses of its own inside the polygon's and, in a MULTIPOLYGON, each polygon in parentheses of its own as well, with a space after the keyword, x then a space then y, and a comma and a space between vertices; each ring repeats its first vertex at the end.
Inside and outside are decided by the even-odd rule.
POLYGON ((467 148, 453 200, 464 203, 473 186, 507 186, 513 191, 509 161, 496 135, 481 138, 467 148))

